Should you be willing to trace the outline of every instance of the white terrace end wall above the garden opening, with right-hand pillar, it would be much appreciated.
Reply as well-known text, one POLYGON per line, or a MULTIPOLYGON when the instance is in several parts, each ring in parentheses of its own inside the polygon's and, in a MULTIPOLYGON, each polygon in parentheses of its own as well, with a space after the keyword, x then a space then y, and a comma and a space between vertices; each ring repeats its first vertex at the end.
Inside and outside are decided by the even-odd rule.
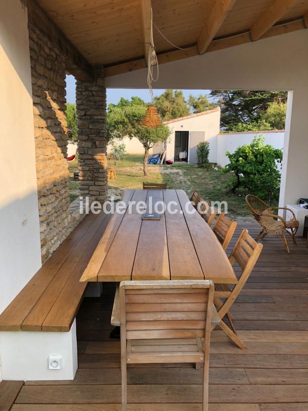
MULTIPOLYGON (((159 67, 157 89, 290 90, 280 204, 308 196, 308 30, 159 67), (287 153, 287 151, 289 151, 287 153)), ((147 88, 147 70, 106 78, 106 87, 147 88)))

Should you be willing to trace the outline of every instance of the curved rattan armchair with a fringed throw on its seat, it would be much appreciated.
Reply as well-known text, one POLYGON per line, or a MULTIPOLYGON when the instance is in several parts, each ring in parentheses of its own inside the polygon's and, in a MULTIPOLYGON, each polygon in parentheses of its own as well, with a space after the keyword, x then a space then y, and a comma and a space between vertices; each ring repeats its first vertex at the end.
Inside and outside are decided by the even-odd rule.
POLYGON ((261 240, 266 235, 278 235, 280 240, 284 243, 287 253, 290 253, 286 232, 293 240, 293 243, 296 244, 295 235, 299 229, 299 222, 296 219, 294 212, 287 207, 271 207, 252 194, 246 196, 246 203, 252 214, 255 216, 255 219, 262 227, 256 241, 261 240), (287 221, 281 216, 274 214, 274 210, 287 210, 292 214, 292 218, 287 221))

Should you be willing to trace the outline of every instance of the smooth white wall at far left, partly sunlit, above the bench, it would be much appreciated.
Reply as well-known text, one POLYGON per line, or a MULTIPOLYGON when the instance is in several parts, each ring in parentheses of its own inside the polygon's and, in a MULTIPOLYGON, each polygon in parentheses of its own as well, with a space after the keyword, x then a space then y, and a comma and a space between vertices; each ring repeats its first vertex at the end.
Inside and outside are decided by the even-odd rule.
POLYGON ((27 13, 20 0, 0 1, 0 96, 1 312, 41 267, 27 13))

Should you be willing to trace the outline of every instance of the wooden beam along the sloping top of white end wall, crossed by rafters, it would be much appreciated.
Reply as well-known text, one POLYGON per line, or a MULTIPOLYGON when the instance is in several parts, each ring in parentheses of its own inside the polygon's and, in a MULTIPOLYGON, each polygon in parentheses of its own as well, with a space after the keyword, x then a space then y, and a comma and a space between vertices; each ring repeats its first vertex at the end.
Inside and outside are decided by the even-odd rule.
MULTIPOLYGON (((298 31, 304 29, 304 19, 301 18, 296 21, 291 21, 289 23, 285 23, 283 25, 275 26, 270 28, 262 37, 275 37, 285 33, 291 33, 293 31, 298 31)), ((239 46, 241 44, 246 44, 251 42, 251 36, 249 32, 245 32, 243 34, 238 34, 236 36, 230 36, 226 38, 221 38, 217 40, 211 41, 210 45, 208 46, 206 53, 211 53, 217 50, 223 50, 225 48, 239 46)), ((188 57, 194 57, 199 54, 197 45, 187 48, 186 50, 174 50, 169 51, 167 53, 158 54, 158 63, 170 63, 171 61, 182 60, 188 57)), ((118 74, 128 73, 130 71, 141 70, 145 68, 145 60, 136 59, 134 61, 125 62, 115 64, 109 67, 104 68, 105 77, 112 77, 118 74)))

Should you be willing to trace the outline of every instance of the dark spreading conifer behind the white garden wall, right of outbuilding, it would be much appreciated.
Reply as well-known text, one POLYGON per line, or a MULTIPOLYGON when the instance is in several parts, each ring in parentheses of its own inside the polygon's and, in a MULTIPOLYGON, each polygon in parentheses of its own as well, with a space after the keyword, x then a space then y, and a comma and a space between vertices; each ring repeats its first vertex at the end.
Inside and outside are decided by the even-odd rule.
POLYGON ((258 124, 273 102, 287 102, 287 92, 282 91, 212 90, 210 96, 220 105, 224 131, 233 131, 240 123, 258 124))

